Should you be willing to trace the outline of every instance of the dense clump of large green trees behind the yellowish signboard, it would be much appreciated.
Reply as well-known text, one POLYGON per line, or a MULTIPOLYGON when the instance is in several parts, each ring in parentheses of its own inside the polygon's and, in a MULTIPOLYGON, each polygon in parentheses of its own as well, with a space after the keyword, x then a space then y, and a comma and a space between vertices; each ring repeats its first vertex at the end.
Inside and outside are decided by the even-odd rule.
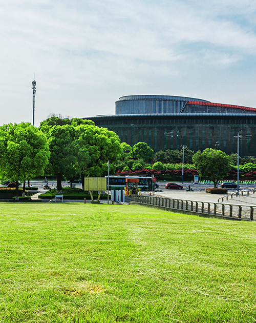
POLYGON ((113 131, 96 127, 91 120, 67 119, 60 125, 57 119, 45 120, 40 129, 49 138, 50 164, 58 191, 63 177, 72 182, 81 174, 83 184, 83 176, 101 176, 108 169, 108 160, 112 163, 119 157, 120 139, 113 131))

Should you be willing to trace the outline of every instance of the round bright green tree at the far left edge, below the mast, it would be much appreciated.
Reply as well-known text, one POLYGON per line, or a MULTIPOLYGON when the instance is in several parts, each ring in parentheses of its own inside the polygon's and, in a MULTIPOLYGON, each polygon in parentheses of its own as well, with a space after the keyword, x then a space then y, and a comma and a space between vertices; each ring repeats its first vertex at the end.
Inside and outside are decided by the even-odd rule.
POLYGON ((43 175, 48 158, 46 136, 30 123, 0 127, 0 176, 15 181, 16 199, 18 182, 43 175))

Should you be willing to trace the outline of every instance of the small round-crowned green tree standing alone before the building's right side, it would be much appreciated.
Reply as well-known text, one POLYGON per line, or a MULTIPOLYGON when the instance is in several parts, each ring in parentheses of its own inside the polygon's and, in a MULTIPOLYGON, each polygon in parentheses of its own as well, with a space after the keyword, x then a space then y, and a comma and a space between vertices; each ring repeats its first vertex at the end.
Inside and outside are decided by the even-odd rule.
POLYGON ((199 175, 212 180, 215 188, 218 180, 223 179, 230 169, 230 157, 223 151, 212 148, 206 148, 203 152, 199 150, 193 156, 193 162, 199 175))

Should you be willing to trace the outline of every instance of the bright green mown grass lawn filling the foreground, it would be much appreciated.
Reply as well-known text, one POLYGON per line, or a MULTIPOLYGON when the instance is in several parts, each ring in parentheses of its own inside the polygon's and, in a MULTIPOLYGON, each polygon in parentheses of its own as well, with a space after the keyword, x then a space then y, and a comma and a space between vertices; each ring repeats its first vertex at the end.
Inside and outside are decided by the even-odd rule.
POLYGON ((256 223, 0 204, 0 322, 255 322, 256 223))

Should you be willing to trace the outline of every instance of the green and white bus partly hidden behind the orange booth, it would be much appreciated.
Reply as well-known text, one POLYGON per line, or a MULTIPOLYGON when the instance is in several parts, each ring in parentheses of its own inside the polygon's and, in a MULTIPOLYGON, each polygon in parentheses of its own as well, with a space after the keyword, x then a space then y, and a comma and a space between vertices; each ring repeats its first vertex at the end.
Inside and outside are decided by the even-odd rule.
MULTIPOLYGON (((108 184, 108 176, 106 177, 106 183, 108 184)), ((126 186, 125 178, 138 178, 139 179, 139 188, 142 191, 152 191, 153 190, 153 180, 152 177, 147 176, 110 176, 110 190, 111 189, 121 189, 126 186)))

